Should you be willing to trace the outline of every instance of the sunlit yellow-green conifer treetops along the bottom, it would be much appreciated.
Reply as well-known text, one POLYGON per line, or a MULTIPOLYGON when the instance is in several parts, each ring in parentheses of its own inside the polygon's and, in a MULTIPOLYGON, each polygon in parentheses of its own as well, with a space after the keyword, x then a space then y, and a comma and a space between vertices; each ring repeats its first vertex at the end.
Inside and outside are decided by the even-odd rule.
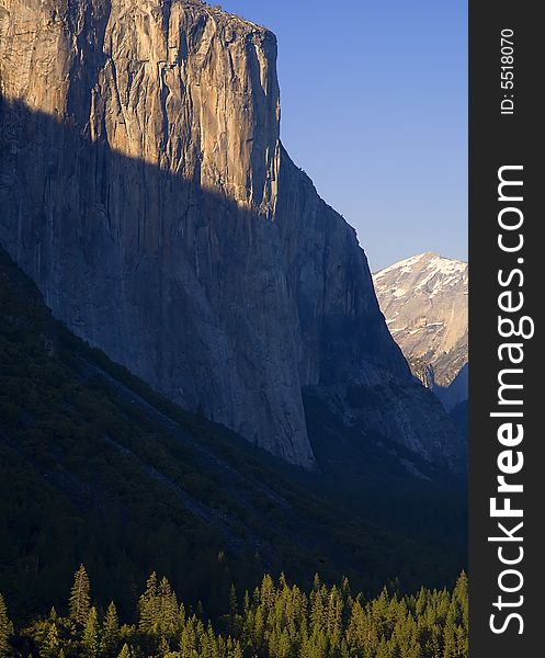
POLYGON ((166 578, 152 574, 138 600, 136 623, 122 623, 115 604, 93 604, 83 566, 76 572, 66 616, 52 609, 22 628, 0 595, 0 658, 464 658, 467 577, 452 592, 421 589, 373 600, 353 595, 347 579, 309 592, 265 575, 237 597, 231 587, 214 627, 202 606, 189 611, 166 578))

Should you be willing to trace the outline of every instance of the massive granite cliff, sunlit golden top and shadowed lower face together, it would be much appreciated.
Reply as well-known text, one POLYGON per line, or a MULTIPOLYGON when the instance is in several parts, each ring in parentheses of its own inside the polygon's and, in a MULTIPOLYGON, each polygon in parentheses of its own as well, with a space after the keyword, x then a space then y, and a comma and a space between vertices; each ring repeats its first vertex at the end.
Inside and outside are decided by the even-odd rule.
POLYGON ((391 383, 371 427, 449 460, 429 394, 394 393, 354 230, 280 141, 275 58, 198 1, 0 0, 0 241, 72 331, 291 463, 315 465, 302 389, 348 383, 391 383))

